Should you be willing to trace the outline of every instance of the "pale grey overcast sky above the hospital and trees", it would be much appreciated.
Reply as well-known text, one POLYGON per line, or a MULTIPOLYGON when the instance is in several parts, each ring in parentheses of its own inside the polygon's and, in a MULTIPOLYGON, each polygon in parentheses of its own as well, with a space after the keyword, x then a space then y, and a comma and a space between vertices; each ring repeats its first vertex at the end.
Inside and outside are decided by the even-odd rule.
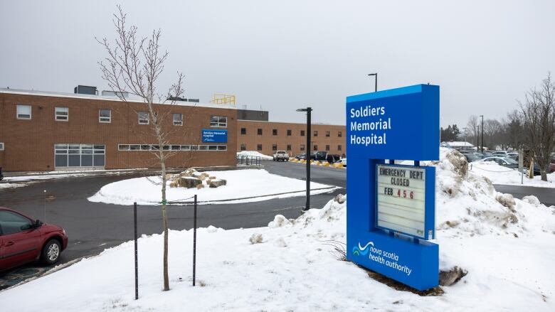
MULTIPOLYGON (((345 97, 440 85, 441 124, 501 118, 555 74, 555 1, 120 1, 169 51, 186 96, 236 95, 270 120, 343 124, 345 97), (185 4, 185 2, 187 4, 185 4)), ((115 38, 112 1, 1 1, 0 87, 107 90, 95 41, 115 38)))

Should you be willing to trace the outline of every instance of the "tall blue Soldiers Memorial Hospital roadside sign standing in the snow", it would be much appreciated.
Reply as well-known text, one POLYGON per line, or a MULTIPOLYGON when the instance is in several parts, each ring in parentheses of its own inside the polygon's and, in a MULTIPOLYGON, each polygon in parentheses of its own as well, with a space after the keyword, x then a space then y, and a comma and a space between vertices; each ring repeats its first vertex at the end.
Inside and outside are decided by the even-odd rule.
POLYGON ((346 114, 347 259, 415 289, 437 286, 439 246, 427 242, 435 238, 435 168, 419 161, 439 159, 439 87, 347 97, 346 114))

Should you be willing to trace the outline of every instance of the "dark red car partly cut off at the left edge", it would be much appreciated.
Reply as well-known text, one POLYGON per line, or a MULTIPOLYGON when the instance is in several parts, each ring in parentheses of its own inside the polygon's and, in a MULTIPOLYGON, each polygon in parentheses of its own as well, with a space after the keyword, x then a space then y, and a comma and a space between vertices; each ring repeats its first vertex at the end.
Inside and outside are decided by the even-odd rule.
POLYGON ((65 230, 0 207, 0 271, 41 259, 54 264, 68 247, 65 230))

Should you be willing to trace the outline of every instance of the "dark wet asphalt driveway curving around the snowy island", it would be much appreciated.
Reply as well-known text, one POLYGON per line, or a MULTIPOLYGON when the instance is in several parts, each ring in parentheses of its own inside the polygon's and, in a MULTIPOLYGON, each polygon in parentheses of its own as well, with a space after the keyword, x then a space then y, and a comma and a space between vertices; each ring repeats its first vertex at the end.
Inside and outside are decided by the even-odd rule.
MULTIPOLYGON (((305 166, 299 163, 263 161, 263 166, 270 173, 305 180, 305 166)), ((311 166, 311 169, 312 181, 345 187, 345 169, 317 166, 311 166)), ((73 259, 98 254, 105 248, 133 239, 132 203, 122 206, 91 203, 87 200, 103 185, 127 178, 132 176, 63 178, 32 183, 23 188, 0 190, 0 206, 13 208, 31 217, 64 227, 69 243, 58 262, 63 264, 73 259), (53 199, 45 201, 44 190, 47 190, 47 197, 53 196, 53 199)), ((268 187, 271 188, 271 185, 268 187)), ((338 193, 345 193, 345 190, 312 195, 311 207, 322 208, 338 193)), ((255 203, 199 205, 197 222, 199 227, 213 225, 226 230, 262 227, 268 225, 277 214, 288 218, 298 217, 304 206, 304 196, 255 203)), ((188 230, 193 227, 191 205, 169 205, 168 215, 169 227, 173 230, 188 230)), ((139 206, 137 218, 139 233, 150 235, 162 232, 162 212, 159 206, 139 206)), ((40 275, 47 269, 49 268, 38 264, 28 264, 0 273, 0 289, 28 277, 40 275)))

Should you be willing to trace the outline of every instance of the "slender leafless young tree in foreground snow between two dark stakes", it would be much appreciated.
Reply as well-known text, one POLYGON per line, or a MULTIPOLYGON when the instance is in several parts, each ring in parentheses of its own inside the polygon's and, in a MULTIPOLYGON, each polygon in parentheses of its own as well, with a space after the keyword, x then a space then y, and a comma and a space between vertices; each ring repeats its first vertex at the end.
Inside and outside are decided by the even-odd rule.
MULTIPOLYGON (((183 75, 178 72, 174 85, 169 87, 168 92, 160 95, 157 91, 157 80, 164 70, 164 61, 168 57, 167 51, 162 52, 159 40, 162 34, 160 30, 154 30, 147 37, 137 36, 137 26, 127 26, 126 14, 121 6, 117 6, 117 14, 114 14, 114 26, 117 33, 113 45, 107 40, 97 41, 107 51, 107 57, 99 63, 102 70, 102 78, 122 101, 126 101, 122 92, 128 92, 142 99, 149 117, 152 137, 158 145, 153 151, 159 161, 162 183, 162 227, 164 229, 164 291, 169 290, 168 276, 168 216, 166 213, 166 160, 173 155, 172 151, 164 149, 169 144, 168 131, 164 131, 162 123, 167 119, 166 114, 159 109, 160 103, 166 102, 173 97, 181 97, 184 90, 182 87, 183 75)), ((173 104, 173 102, 171 102, 173 104)))

